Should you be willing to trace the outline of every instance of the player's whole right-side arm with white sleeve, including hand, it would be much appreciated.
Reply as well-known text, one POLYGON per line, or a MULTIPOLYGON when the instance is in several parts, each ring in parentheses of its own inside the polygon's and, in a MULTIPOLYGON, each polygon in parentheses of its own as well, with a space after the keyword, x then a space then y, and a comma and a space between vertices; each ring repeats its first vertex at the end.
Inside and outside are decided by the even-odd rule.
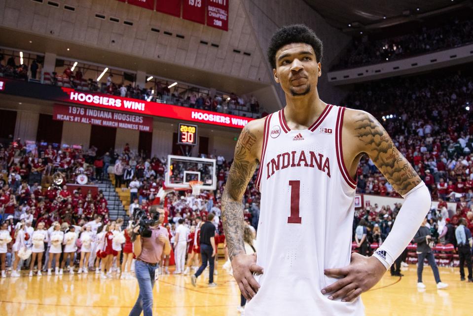
POLYGON ((360 157, 367 154, 404 197, 393 229, 373 256, 353 253, 348 266, 325 270, 327 276, 341 278, 325 287, 322 293, 330 293, 330 300, 341 298, 343 302, 355 300, 381 279, 419 229, 429 211, 431 198, 410 163, 400 154, 383 126, 370 114, 346 110, 342 146, 350 175, 355 175, 360 157))

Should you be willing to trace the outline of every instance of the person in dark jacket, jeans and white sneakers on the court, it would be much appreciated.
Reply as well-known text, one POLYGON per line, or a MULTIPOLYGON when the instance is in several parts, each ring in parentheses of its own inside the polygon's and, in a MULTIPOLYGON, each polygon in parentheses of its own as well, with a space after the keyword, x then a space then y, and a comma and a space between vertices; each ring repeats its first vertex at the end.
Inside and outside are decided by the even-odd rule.
MULTIPOLYGON (((440 280, 440 275, 438 274, 437 264, 435 262, 434 253, 429 243, 432 242, 432 236, 430 229, 426 226, 427 217, 424 218, 421 227, 414 236, 414 242, 417 242, 417 287, 425 288, 424 283, 422 283, 422 271, 424 270, 424 258, 427 258, 429 265, 434 272, 435 281, 437 283, 437 289, 442 289, 448 286, 448 284, 443 283, 440 280)), ((435 244, 435 243, 434 243, 435 244)))

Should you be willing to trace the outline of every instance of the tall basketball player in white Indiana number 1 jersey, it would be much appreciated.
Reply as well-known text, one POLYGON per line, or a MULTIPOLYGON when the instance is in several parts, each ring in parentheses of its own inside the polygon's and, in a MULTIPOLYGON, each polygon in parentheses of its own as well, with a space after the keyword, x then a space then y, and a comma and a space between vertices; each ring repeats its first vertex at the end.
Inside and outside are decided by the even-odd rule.
POLYGON ((429 191, 373 116, 319 98, 322 42, 312 30, 281 28, 268 58, 286 106, 245 126, 221 203, 233 275, 251 299, 245 315, 364 315, 359 295, 415 235, 431 205, 429 191), (364 155, 404 197, 392 232, 371 257, 351 255, 364 155), (245 254, 241 201, 258 163, 256 256, 245 254))

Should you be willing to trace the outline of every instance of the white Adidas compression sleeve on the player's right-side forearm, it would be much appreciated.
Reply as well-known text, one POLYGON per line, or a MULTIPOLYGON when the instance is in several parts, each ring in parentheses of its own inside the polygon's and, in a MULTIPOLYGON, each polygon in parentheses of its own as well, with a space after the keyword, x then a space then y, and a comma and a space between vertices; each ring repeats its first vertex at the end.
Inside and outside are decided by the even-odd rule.
POLYGON ((376 257, 386 269, 391 267, 417 233, 432 204, 429 189, 424 182, 419 183, 403 197, 404 203, 399 210, 392 231, 384 243, 373 253, 373 257, 376 257))

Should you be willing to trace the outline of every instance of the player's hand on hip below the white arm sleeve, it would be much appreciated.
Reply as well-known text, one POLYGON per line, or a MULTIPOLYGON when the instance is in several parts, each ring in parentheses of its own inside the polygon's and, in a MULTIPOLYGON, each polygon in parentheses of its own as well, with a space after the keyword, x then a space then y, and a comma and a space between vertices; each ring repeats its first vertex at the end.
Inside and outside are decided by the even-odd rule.
POLYGON ((385 273, 386 268, 378 259, 365 257, 355 252, 352 253, 348 266, 325 269, 326 276, 340 279, 323 288, 322 294, 329 294, 329 300, 341 298, 342 302, 350 302, 378 283, 385 273))

